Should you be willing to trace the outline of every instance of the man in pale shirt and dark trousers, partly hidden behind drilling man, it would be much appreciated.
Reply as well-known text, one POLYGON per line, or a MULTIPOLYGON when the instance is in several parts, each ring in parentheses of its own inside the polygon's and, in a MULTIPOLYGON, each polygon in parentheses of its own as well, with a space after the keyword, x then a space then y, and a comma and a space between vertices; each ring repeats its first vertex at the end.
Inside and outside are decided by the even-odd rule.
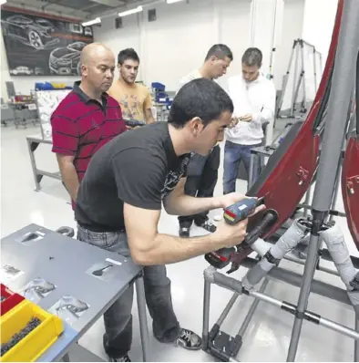
MULTIPOLYGON (((182 78, 180 88, 195 78, 220 78, 226 74, 232 60, 231 49, 224 44, 210 47, 203 65, 182 78)), ((219 145, 216 145, 208 156, 192 153, 185 185, 186 194, 199 198, 212 197, 218 180, 220 161, 221 149, 219 145)), ((210 222, 208 212, 182 215, 179 217, 180 237, 190 237, 190 226, 193 222, 210 233, 216 232, 216 226, 210 222)))

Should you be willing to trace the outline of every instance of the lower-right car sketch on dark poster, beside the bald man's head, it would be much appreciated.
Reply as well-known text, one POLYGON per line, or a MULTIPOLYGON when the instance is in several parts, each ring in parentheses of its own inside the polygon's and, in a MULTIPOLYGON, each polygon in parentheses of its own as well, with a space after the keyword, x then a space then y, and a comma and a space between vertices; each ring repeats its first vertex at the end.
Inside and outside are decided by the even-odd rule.
POLYGON ((86 43, 75 42, 54 49, 48 58, 48 67, 58 75, 81 75, 80 55, 86 43))

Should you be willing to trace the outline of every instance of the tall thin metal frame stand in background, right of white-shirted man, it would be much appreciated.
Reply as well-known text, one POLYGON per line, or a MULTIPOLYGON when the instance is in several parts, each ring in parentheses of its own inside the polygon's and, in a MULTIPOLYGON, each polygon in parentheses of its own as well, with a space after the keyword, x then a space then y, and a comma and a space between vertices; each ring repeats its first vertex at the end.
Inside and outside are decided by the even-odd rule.
POLYGON ((306 101, 306 89, 305 89, 305 66, 304 66, 304 51, 303 51, 303 47, 307 46, 307 47, 312 47, 313 48, 313 76, 314 76, 314 88, 315 91, 318 89, 318 81, 317 81, 317 64, 316 64, 316 59, 317 57, 319 58, 319 64, 321 67, 321 73, 322 73, 322 55, 320 52, 318 52, 315 47, 312 44, 309 44, 308 42, 306 42, 303 39, 295 39, 293 41, 293 46, 292 46, 292 53, 291 53, 291 57, 289 60, 289 65, 288 65, 288 69, 287 72, 284 76, 283 79, 283 86, 282 86, 282 95, 281 98, 279 99, 278 102, 278 109, 276 112, 276 117, 277 118, 301 118, 300 116, 296 116, 294 113, 296 111, 296 105, 297 105, 297 101, 298 101, 298 95, 299 95, 299 90, 301 88, 301 86, 303 87, 303 99, 301 101, 301 113, 306 113, 307 112, 307 101, 306 101), (294 53, 295 53, 295 59, 294 59, 294 53), (300 60, 299 58, 301 58, 301 65, 300 65, 300 60), (294 72, 293 72, 293 83, 292 83, 292 102, 291 102, 291 111, 289 116, 283 116, 280 115, 281 110, 282 110, 282 105, 283 105, 283 100, 284 100, 284 95, 285 92, 287 91, 287 86, 288 86, 288 80, 290 78, 290 74, 291 74, 291 68, 292 68, 292 61, 294 59, 294 72), (299 77, 297 79, 297 73, 298 73, 298 67, 301 67, 301 73, 299 74, 299 77))

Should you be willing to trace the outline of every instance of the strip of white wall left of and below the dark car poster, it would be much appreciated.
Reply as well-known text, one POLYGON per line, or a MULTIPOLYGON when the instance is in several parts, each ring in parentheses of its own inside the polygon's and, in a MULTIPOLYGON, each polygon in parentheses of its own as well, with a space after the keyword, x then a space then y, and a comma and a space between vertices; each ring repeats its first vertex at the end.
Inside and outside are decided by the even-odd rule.
POLYGON ((3 34, 0 29, 0 53, 1 53, 1 97, 4 100, 7 100, 7 92, 6 92, 6 81, 13 81, 15 86, 15 92, 21 93, 23 95, 29 95, 31 90, 35 89, 36 82, 56 82, 56 83, 65 83, 70 86, 78 77, 45 77, 45 76, 10 76, 9 67, 7 64, 7 57, 5 51, 5 44, 3 34))

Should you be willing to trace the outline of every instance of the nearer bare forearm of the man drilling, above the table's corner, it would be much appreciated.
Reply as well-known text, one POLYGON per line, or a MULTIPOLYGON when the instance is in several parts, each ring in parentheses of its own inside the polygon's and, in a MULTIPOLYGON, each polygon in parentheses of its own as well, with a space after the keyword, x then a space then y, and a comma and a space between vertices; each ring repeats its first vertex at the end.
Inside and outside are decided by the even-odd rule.
POLYGON ((195 238, 159 233, 148 248, 132 254, 132 258, 140 265, 174 264, 215 251, 224 245, 224 241, 216 233, 195 238))

